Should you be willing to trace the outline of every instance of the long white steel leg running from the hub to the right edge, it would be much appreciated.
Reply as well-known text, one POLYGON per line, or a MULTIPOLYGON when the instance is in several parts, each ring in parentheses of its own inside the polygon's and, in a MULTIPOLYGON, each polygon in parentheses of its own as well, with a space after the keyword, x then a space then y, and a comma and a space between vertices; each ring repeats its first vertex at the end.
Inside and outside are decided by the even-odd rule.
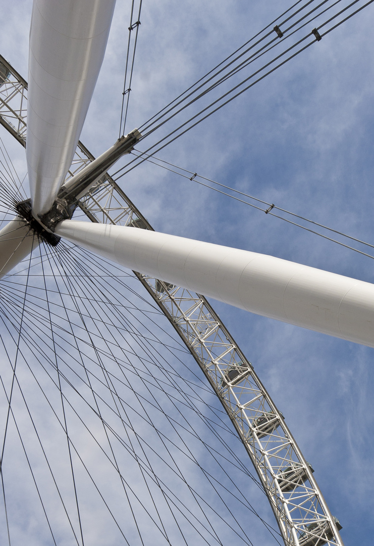
POLYGON ((126 268, 265 317, 374 347, 374 285, 164 233, 65 220, 56 234, 126 268))

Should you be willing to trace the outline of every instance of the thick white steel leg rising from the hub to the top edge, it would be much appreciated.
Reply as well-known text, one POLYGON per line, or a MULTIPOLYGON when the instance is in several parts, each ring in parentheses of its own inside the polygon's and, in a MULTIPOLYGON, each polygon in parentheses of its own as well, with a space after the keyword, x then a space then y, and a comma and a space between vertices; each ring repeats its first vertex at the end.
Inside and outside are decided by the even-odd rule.
POLYGON ((33 215, 49 211, 71 165, 116 0, 34 0, 26 157, 33 215))

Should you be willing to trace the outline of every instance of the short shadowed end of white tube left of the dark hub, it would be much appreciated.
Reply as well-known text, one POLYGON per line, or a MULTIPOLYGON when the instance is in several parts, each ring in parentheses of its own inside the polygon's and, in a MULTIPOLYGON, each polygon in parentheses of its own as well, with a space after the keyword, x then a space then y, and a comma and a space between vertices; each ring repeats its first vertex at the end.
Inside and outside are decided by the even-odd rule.
POLYGON ((34 237, 20 217, 5 225, 0 230, 0 278, 7 275, 38 245, 38 238, 34 237))

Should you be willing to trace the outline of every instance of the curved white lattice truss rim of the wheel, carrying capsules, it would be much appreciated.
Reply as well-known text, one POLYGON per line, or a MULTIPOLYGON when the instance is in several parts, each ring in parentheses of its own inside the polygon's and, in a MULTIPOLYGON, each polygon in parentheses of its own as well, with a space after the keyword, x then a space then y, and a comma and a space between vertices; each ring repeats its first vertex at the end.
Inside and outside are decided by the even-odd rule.
MULTIPOLYGON (((10 75, 0 85, 0 122, 25 145, 27 83, 0 56, 0 63, 4 62, 10 75), (9 122, 11 116, 17 120, 18 129, 9 122)), ((67 179, 93 159, 79 143, 67 179)), ((80 207, 92 222, 152 229, 108 174, 81 199, 80 207)), ((135 275, 170 320, 219 397, 256 468, 285 544, 342 546, 336 520, 309 463, 254 367, 207 300, 185 288, 135 275), (287 490, 292 485, 293 489, 287 490), (314 530, 309 529, 312 526, 314 530)))

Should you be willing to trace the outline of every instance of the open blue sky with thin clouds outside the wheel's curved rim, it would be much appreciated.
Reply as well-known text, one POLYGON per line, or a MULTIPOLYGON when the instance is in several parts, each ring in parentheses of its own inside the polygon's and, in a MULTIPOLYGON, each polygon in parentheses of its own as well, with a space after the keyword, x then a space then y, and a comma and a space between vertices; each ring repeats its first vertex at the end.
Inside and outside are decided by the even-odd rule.
MULTIPOLYGON (((118 137, 129 20, 123 4, 118 1, 81 135, 94 155, 118 137)), ((127 129, 141 126, 288 7, 283 1, 144 2, 127 129)), ((373 9, 301 52, 158 157, 371 243, 373 9)), ((0 5, 0 52, 25 77, 30 13, 29 1, 0 5)), ((23 150, 3 133, 23 177, 23 150)), ((153 144, 156 134, 162 128, 137 148, 153 144)), ((155 165, 144 163, 118 183, 156 230, 373 281, 371 258, 155 165)), ((343 541, 371 545, 373 349, 213 304, 315 468, 343 525, 343 541)), ((261 495, 256 502, 262 506, 261 495)))

